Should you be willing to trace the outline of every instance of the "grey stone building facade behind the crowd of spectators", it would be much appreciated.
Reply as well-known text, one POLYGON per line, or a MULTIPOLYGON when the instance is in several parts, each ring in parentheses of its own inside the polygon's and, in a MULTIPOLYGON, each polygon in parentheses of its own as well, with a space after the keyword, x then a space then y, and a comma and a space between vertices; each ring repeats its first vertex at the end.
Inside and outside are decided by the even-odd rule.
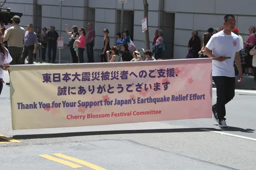
MULTIPOLYGON (((153 42, 154 31, 161 28, 164 32, 167 46, 166 56, 175 59, 185 58, 187 55, 187 44, 191 37, 191 30, 196 29, 199 37, 210 27, 223 25, 225 14, 235 14, 237 27, 241 36, 248 37, 248 27, 256 25, 256 11, 254 0, 148 0, 148 30, 150 43, 153 42), (239 4, 239 5, 238 5, 239 4), (242 10, 246 9, 246 10, 242 10)), ((54 25, 56 31, 64 37, 65 44, 68 43, 69 35, 65 32, 65 24, 69 26, 83 26, 92 23, 96 31, 95 60, 99 61, 100 50, 103 46, 102 31, 108 28, 111 45, 115 44, 115 34, 120 30, 120 15, 122 5, 119 0, 65 0, 62 3, 62 24, 60 28, 60 1, 58 0, 8 0, 5 7, 11 11, 23 13, 20 26, 26 29, 28 23, 36 27, 47 27, 54 25), (41 6, 41 14, 33 10, 41 6), (37 15, 37 16, 35 16, 37 15), (36 22, 41 15, 41 24, 36 22)), ((141 20, 143 16, 143 0, 128 0, 124 4, 124 26, 129 27, 127 18, 134 12, 134 43, 137 48, 145 48, 145 34, 142 33, 141 20)), ((129 29, 128 28, 128 29, 129 29)), ((85 53, 86 54, 86 53, 85 53)), ((57 54, 58 55, 58 54, 57 54)), ((58 58, 58 57, 57 57, 58 58)), ((86 55, 85 55, 86 58, 86 55)), ((61 59, 70 61, 70 51, 67 46, 61 50, 61 59)))

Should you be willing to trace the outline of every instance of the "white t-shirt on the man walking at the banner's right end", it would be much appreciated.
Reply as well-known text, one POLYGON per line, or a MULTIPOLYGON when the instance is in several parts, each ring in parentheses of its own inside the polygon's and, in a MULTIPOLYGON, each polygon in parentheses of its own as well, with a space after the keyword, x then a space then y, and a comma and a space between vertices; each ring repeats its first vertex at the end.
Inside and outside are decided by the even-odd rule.
POLYGON ((215 57, 231 57, 223 62, 212 60, 212 76, 235 77, 234 59, 236 52, 242 47, 239 37, 231 32, 231 35, 224 34, 220 31, 214 34, 206 45, 215 57))

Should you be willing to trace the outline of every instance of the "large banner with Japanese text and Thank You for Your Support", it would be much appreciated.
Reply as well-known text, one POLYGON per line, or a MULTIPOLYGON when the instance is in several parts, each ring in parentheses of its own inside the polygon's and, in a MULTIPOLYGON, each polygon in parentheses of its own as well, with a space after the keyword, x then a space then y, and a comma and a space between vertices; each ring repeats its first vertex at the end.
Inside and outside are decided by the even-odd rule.
POLYGON ((11 67, 13 129, 211 118, 211 59, 11 67))

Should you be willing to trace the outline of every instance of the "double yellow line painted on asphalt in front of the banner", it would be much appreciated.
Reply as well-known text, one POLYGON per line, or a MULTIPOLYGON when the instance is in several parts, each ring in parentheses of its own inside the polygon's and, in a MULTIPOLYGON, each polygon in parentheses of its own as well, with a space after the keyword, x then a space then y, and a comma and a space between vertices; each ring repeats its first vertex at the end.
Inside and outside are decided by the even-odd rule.
POLYGON ((80 165, 78 165, 78 164, 74 164, 74 163, 72 163, 72 162, 70 162, 70 161, 73 161, 73 162, 82 164, 82 165, 84 165, 84 166, 90 167, 90 168, 92 168, 93 170, 106 170, 106 169, 104 169, 104 168, 102 168, 102 167, 99 167, 99 166, 97 166, 97 165, 95 165, 95 164, 91 164, 90 162, 83 161, 83 160, 81 160, 81 159, 76 159, 76 158, 73 158, 73 157, 64 155, 64 154, 62 154, 62 153, 53 153, 52 155, 58 156, 58 157, 63 158, 63 159, 67 159, 67 160, 69 160, 69 161, 65 161, 65 160, 63 160, 63 159, 58 159, 58 158, 55 158, 55 157, 49 156, 49 155, 39 155, 39 156, 41 156, 41 157, 43 157, 43 158, 45 158, 45 159, 49 159, 49 160, 51 160, 51 161, 58 162, 58 163, 60 163, 60 164, 67 165, 67 166, 72 167, 72 168, 82 168, 82 166, 80 166, 80 165))

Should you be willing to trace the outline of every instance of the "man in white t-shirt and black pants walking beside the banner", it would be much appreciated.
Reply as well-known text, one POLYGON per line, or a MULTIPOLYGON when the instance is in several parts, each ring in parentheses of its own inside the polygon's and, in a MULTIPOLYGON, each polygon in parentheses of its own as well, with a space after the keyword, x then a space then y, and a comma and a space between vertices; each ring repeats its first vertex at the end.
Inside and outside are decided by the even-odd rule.
POLYGON ((214 34, 204 50, 208 57, 215 58, 212 60, 212 79, 217 89, 217 102, 212 106, 212 113, 219 127, 227 127, 225 105, 235 96, 234 60, 239 71, 238 82, 241 82, 243 78, 239 54, 242 47, 239 37, 232 32, 235 27, 236 18, 234 15, 226 15, 224 17, 224 30, 214 34), (231 59, 227 57, 231 57, 231 59))

